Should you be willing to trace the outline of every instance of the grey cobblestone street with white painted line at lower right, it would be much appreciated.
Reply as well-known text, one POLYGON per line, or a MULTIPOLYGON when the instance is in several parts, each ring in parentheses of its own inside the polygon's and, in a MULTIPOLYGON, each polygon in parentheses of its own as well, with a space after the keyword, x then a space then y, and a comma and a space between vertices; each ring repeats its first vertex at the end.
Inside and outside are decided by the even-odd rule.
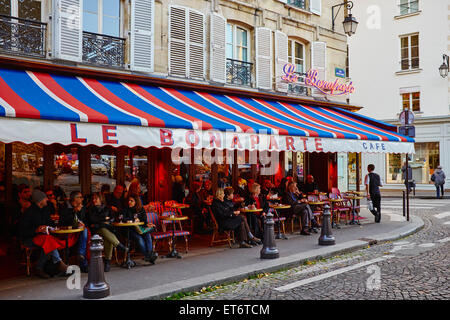
MULTIPOLYGON (((450 204, 448 200, 412 199, 411 215, 420 216, 425 226, 403 239, 183 299, 449 299, 450 213, 445 212, 446 201, 450 204)), ((385 216, 401 213, 398 200, 383 200, 382 212, 385 216)))

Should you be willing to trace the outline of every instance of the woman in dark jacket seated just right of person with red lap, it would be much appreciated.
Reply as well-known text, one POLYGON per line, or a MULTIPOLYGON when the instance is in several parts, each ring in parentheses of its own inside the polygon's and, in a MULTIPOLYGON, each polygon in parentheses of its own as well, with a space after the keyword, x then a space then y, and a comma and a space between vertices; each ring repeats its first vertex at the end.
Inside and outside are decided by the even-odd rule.
POLYGON ((78 238, 78 260, 81 272, 88 272, 86 259, 88 229, 86 227, 86 208, 83 206, 83 198, 80 191, 72 191, 70 193, 67 207, 61 210, 59 224, 73 228, 85 227, 78 238))

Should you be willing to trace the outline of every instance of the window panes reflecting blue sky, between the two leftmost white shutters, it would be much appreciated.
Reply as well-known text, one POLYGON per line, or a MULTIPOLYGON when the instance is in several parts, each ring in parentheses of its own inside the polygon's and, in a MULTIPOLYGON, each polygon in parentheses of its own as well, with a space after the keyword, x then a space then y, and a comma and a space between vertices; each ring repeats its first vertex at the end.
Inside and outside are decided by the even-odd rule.
POLYGON ((83 31, 120 36, 120 0, 83 0, 83 31))

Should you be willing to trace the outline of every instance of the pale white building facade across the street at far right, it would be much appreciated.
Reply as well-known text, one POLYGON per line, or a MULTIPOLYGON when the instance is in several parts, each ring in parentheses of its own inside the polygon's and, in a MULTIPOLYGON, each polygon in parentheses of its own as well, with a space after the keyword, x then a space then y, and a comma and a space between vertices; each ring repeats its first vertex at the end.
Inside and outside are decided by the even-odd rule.
MULTIPOLYGON (((361 85, 352 103, 364 105, 362 114, 398 126, 402 110, 414 112, 412 178, 417 189, 433 190, 430 177, 436 167, 450 172, 450 79, 443 79, 438 71, 443 54, 450 50, 450 4, 446 0, 364 0, 358 1, 353 12, 361 23, 349 39, 350 69, 352 80, 361 85)), ((404 188, 405 159, 400 154, 366 154, 362 172, 374 163, 385 189, 404 188)), ((447 174, 447 183, 449 179, 447 174)))

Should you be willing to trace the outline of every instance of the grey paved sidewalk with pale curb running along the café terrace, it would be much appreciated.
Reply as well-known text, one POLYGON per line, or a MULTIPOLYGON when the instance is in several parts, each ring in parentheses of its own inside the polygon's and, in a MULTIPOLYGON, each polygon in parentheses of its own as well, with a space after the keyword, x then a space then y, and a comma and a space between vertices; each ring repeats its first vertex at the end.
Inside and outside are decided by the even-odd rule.
MULTIPOLYGON (((306 260, 338 255, 367 247, 373 240, 388 241, 402 238, 423 227, 419 217, 411 221, 401 216, 383 216, 380 224, 373 222, 373 216, 366 209, 361 215, 367 217, 361 226, 343 225, 333 229, 336 245, 319 246, 319 234, 300 236, 287 234, 288 240, 277 240, 280 252, 278 259, 260 259, 262 246, 251 249, 229 249, 227 246, 198 249, 183 254, 183 259, 158 259, 156 265, 140 266, 131 270, 113 267, 106 273, 111 287, 107 299, 160 299, 176 292, 195 291, 213 284, 242 280, 248 276, 273 272, 282 268, 298 266, 306 260)), ((179 249, 183 246, 180 245, 179 249)), ((82 274, 81 289, 68 290, 64 278, 49 280, 16 278, 0 282, 0 299, 83 299, 83 286, 87 274, 82 274)))

